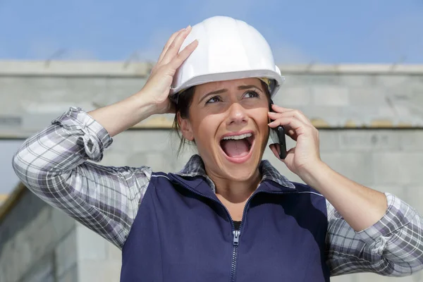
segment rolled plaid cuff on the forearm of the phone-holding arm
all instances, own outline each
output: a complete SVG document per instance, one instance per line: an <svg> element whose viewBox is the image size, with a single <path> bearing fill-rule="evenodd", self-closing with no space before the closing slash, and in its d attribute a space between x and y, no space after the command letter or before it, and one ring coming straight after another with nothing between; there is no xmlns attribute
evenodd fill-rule
<svg viewBox="0 0 423 282"><path fill-rule="evenodd" d="M386 209L384 216L373 226L357 232L357 235L364 240L364 243L370 245L376 252L384 250L388 238L398 229L410 223L417 215L415 209L395 195L385 192L385 196L388 202L388 209Z"/></svg>

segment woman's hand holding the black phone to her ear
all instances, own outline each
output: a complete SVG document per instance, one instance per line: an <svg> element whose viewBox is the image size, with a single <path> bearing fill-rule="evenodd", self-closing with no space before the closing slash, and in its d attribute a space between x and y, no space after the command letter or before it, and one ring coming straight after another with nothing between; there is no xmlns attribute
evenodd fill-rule
<svg viewBox="0 0 423 282"><path fill-rule="evenodd" d="M315 166L322 164L319 153L319 131L301 111L282 108L275 104L272 105L272 109L275 113L269 112L269 118L273 120L269 123L269 127L276 128L278 125L283 125L286 135L297 142L281 161L301 178L302 173L308 173ZM270 145L270 149L280 159L274 144Z"/></svg>

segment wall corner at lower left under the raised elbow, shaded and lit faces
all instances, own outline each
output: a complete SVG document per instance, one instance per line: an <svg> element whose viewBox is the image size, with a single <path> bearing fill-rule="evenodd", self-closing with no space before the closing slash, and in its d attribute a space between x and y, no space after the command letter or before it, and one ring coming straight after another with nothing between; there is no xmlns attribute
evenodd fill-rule
<svg viewBox="0 0 423 282"><path fill-rule="evenodd" d="M1 282L118 281L117 247L25 192L0 222Z"/></svg>

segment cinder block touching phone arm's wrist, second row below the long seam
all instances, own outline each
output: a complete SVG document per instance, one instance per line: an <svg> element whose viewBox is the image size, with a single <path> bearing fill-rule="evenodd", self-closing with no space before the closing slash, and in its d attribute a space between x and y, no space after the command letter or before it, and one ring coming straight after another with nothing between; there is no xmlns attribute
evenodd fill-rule
<svg viewBox="0 0 423 282"><path fill-rule="evenodd" d="M362 185L373 185L372 155L366 152L322 152L322 161L334 171Z"/></svg>

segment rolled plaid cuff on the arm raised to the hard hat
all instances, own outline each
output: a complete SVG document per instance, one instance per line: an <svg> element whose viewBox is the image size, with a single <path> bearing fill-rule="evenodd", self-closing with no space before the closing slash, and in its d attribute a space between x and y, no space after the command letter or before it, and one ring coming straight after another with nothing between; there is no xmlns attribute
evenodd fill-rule
<svg viewBox="0 0 423 282"><path fill-rule="evenodd" d="M101 161L104 149L113 142L106 128L79 107L72 106L51 123L59 124L67 130L82 131L85 153L92 161Z"/></svg>

